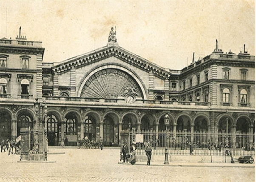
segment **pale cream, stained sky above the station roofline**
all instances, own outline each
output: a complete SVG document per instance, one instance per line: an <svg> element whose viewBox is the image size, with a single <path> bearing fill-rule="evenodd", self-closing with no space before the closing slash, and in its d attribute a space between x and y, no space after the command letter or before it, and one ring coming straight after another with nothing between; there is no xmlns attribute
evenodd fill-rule
<svg viewBox="0 0 256 182"><path fill-rule="evenodd" d="M61 62L107 45L116 27L120 47L161 67L182 69L216 47L255 55L254 0L0 0L0 37L42 41L44 62Z"/></svg>

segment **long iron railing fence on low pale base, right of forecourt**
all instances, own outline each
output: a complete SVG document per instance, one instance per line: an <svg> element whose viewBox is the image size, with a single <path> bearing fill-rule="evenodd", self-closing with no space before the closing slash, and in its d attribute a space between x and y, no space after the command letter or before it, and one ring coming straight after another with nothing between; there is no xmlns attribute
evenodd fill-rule
<svg viewBox="0 0 256 182"><path fill-rule="evenodd" d="M225 155L230 150L234 156L255 156L255 134L251 133L211 133L191 131L131 131L130 143L137 143L137 154L145 155L145 142L153 147L152 155L164 155L165 148L171 155ZM139 140L139 141L138 141Z"/></svg>

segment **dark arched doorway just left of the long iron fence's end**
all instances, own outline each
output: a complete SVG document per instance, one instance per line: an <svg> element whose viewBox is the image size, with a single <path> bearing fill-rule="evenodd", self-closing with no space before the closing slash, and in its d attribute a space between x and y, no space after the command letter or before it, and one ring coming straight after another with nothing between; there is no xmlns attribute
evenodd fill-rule
<svg viewBox="0 0 256 182"><path fill-rule="evenodd" d="M103 119L103 145L118 145L118 121L119 117L115 113L108 113Z"/></svg>

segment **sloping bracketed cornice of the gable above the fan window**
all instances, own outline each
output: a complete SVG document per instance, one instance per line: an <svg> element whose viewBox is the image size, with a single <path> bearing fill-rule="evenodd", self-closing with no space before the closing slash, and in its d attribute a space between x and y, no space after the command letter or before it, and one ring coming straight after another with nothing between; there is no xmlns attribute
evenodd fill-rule
<svg viewBox="0 0 256 182"><path fill-rule="evenodd" d="M53 71L58 74L62 74L69 71L71 68L81 68L113 56L117 57L119 60L129 63L131 66L135 66L147 72L151 71L156 77L160 77L161 79L168 78L171 75L171 73L166 71L164 68L151 63L150 61L145 60L144 58L119 46L105 46L86 54L72 57L59 63L58 65L55 65L53 67Z"/></svg>

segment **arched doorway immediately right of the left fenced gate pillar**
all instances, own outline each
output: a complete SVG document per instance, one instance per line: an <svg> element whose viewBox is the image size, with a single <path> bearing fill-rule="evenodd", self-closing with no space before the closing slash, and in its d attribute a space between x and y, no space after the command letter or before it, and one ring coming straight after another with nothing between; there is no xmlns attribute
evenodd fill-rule
<svg viewBox="0 0 256 182"><path fill-rule="evenodd" d="M60 139L60 123L54 114L46 116L48 145L58 145Z"/></svg>

